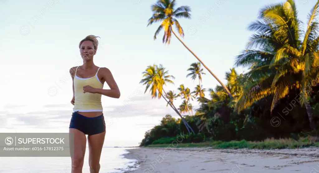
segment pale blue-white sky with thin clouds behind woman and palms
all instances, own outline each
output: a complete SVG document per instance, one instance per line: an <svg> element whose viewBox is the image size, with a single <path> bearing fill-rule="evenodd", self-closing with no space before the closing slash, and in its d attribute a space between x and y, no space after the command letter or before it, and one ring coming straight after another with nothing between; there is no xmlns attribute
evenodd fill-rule
<svg viewBox="0 0 319 173"><path fill-rule="evenodd" d="M139 84L142 72L154 63L163 64L176 78L166 91L177 92L180 84L193 90L198 84L186 78L196 58L174 36L164 45L163 31L154 41L159 23L146 27L155 2L1 0L0 132L68 132L73 108L69 69L81 65L78 43L89 34L101 37L95 64L111 70L121 91L119 99L102 96L108 124L104 146L137 146L166 114L178 118L165 100L152 100ZM192 10L192 19L178 19L183 41L226 82L225 72L253 34L248 25L261 7L278 2L284 1L177 0L177 6ZM296 0L304 23L314 4ZM216 79L204 72L204 88L215 88ZM180 103L175 101L176 106ZM198 108L197 102L193 105Z"/></svg>

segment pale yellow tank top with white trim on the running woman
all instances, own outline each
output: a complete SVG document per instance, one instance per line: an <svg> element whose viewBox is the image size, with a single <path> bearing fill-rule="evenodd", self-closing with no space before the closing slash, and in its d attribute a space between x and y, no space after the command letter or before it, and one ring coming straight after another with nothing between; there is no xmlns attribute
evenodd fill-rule
<svg viewBox="0 0 319 173"><path fill-rule="evenodd" d="M79 78L77 76L78 67L74 75L74 107L73 111L79 112L102 112L101 94L83 93L83 86L89 85L93 88L103 89L103 84L98 78L98 72L91 78Z"/></svg>

